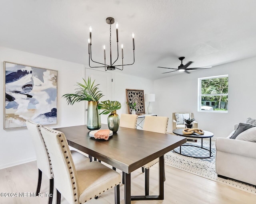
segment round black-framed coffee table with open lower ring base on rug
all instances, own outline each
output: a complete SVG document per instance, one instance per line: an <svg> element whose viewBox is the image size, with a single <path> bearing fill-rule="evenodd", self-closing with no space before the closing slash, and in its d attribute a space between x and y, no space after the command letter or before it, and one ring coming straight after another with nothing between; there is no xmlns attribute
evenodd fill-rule
<svg viewBox="0 0 256 204"><path fill-rule="evenodd" d="M179 135L179 136L183 136L183 137L192 137L192 138L201 138L202 139L202 145L201 147L200 146L196 146L196 145L180 145L180 152L176 151L175 149L173 150L174 152L180 154L180 155L184 155L182 154L181 152L181 146L191 146L191 147L198 147L198 148L201 148L201 149L205 149L206 151L209 151L210 155L209 157L194 157L194 158L210 158L213 156L213 153L212 153L212 137L213 137L213 133L212 132L209 132L209 131L205 131L204 130L204 134L203 135L200 135L200 134L197 134L197 133L192 133L191 135L186 135L186 134L183 134L182 133L182 129L174 129L172 131L175 135ZM203 147L203 139L204 138L210 138L210 149L206 149ZM187 156L187 157L192 157L192 156L189 156L189 155L184 155L184 156Z"/></svg>

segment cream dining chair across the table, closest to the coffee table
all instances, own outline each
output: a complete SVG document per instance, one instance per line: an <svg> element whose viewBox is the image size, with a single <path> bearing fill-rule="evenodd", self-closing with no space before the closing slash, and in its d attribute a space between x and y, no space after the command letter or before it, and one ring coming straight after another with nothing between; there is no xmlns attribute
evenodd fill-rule
<svg viewBox="0 0 256 204"><path fill-rule="evenodd" d="M167 126L168 126L168 117L146 116L144 120L143 130L166 134ZM145 195L146 196L149 195L149 168L158 162L159 162L159 159L157 158L142 167L142 172L145 171ZM165 173L164 173L164 180L165 180Z"/></svg>

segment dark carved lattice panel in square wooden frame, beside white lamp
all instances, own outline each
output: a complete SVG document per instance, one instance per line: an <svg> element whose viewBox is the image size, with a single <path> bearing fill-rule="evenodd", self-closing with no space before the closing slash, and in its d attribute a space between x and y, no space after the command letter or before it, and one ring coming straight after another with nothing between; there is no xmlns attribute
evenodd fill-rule
<svg viewBox="0 0 256 204"><path fill-rule="evenodd" d="M126 89L127 103L136 103L136 114L145 113L144 90ZM128 113L132 113L132 109L128 105Z"/></svg>

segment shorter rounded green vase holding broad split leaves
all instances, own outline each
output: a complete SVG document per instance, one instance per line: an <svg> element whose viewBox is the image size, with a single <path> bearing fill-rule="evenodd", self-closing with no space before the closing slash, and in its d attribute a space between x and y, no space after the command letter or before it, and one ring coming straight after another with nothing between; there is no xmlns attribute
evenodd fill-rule
<svg viewBox="0 0 256 204"><path fill-rule="evenodd" d="M108 116L108 128L113 131L113 133L116 133L119 128L120 124L120 118L118 114L116 113L116 110L119 110L121 108L121 104L118 101L101 101L98 104L98 109L104 110L100 114L109 114Z"/></svg>

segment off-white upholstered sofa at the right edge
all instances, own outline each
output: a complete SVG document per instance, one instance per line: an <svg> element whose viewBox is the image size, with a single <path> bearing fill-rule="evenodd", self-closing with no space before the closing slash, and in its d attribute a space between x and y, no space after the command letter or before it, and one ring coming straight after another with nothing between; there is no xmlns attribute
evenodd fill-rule
<svg viewBox="0 0 256 204"><path fill-rule="evenodd" d="M238 124L235 125L237 129ZM247 129L240 135L251 134L247 136L253 135L255 140L255 129ZM239 180L256 187L256 142L240 140L239 135L236 139L230 139L234 132L227 138L216 139L216 173L218 177Z"/></svg>

